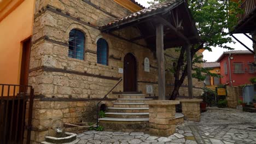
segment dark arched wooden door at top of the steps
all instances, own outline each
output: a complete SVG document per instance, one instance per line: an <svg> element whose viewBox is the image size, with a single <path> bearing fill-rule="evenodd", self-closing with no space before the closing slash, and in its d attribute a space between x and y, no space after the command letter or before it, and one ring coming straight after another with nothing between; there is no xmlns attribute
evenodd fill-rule
<svg viewBox="0 0 256 144"><path fill-rule="evenodd" d="M124 57L124 92L137 91L137 62L135 56L127 53Z"/></svg>

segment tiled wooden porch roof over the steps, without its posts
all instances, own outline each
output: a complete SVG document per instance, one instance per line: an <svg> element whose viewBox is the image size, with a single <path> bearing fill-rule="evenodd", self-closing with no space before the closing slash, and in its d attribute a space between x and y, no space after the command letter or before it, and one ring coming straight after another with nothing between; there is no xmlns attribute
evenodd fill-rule
<svg viewBox="0 0 256 144"><path fill-rule="evenodd" d="M185 0L171 0L142 9L129 16L108 23L101 27L101 31L114 35L112 32L119 29L136 27L141 35L129 40L136 43L137 40L144 39L147 43L146 47L155 51L155 31L159 23L165 26L164 49L184 44L184 39L178 33L188 38L190 44L197 43L199 39L195 23Z"/></svg>

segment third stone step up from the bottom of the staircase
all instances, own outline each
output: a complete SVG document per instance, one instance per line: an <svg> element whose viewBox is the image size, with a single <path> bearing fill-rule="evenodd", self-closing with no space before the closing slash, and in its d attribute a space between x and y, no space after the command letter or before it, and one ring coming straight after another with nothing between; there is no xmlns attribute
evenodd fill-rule
<svg viewBox="0 0 256 144"><path fill-rule="evenodd" d="M143 113L143 112L148 112L148 107L135 107L135 108L130 108L130 107L108 107L108 112L123 112L123 113Z"/></svg>

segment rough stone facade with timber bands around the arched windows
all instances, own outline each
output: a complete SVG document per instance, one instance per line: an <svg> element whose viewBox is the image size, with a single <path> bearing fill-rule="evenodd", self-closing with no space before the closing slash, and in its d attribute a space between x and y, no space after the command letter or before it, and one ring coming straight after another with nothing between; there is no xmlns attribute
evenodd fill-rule
<svg viewBox="0 0 256 144"><path fill-rule="evenodd" d="M53 135L54 128L63 127L63 123L95 121L95 103L98 101L95 99L103 98L123 77L118 71L123 68L127 53L132 53L137 60L137 91L146 94L146 85L152 85L153 93L158 94L158 69L153 52L98 29L98 26L129 13L108 0L36 1L29 84L42 98L34 104L31 138L34 143L43 141L46 135ZM69 32L74 28L85 34L84 60L68 57ZM130 39L137 37L139 32L135 28L126 28L115 34ZM109 46L108 65L97 64L96 43L100 38ZM144 41L139 43L144 44ZM149 73L144 71L145 57L150 61ZM181 93L186 89L184 86ZM123 92L123 82L113 92ZM118 95L110 93L108 98L115 99Z"/></svg>

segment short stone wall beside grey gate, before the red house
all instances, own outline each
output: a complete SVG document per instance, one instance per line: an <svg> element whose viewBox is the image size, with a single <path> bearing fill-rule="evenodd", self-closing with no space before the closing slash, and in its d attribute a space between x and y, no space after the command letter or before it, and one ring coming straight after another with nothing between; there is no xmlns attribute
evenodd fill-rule
<svg viewBox="0 0 256 144"><path fill-rule="evenodd" d="M241 87L226 87L226 100L228 100L228 107L230 108L236 108L238 104L238 98L241 96Z"/></svg>

